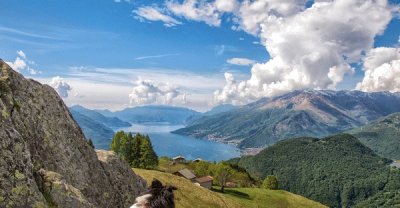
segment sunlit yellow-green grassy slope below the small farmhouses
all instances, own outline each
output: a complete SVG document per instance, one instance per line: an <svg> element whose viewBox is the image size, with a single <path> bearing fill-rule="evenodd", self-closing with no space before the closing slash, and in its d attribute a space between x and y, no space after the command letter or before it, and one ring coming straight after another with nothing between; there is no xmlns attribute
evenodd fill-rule
<svg viewBox="0 0 400 208"><path fill-rule="evenodd" d="M204 208L242 208L242 207L268 207L268 208L313 208L324 207L304 197L286 191L271 191L258 188L227 189L225 194L213 192L198 187L190 181L154 170L134 169L135 173L151 182L153 178L163 183L174 185L178 188L175 192L177 208L204 207Z"/></svg>

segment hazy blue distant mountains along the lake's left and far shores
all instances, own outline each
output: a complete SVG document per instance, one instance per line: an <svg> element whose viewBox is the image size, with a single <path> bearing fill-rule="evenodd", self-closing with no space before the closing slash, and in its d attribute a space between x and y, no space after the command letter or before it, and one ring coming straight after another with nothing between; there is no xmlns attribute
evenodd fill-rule
<svg viewBox="0 0 400 208"><path fill-rule="evenodd" d="M141 106L121 111L91 110L75 105L69 108L73 118L82 128L86 138L96 149L108 150L116 130L136 123L163 123L183 125L198 119L202 114L187 108L171 106Z"/></svg>

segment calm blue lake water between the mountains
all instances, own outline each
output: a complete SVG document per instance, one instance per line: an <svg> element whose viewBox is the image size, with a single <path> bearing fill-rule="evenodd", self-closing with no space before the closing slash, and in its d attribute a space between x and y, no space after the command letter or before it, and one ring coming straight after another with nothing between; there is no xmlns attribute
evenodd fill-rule
<svg viewBox="0 0 400 208"><path fill-rule="evenodd" d="M184 126L150 123L133 124L131 127L119 130L148 134L158 156L182 155L187 160L201 158L208 161L221 161L240 156L240 150L234 145L170 133L182 127Z"/></svg>

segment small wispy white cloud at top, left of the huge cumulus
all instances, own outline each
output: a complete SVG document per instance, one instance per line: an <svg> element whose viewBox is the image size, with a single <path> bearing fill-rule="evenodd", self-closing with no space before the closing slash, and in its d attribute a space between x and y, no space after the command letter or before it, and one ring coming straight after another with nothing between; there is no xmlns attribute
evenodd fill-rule
<svg viewBox="0 0 400 208"><path fill-rule="evenodd" d="M136 17L141 21L144 20L161 21L164 22L164 25L166 27L173 27L182 24L175 18L164 14L163 11L158 7L151 7L151 6L140 7L137 10L133 10L133 13L135 13L137 15Z"/></svg>

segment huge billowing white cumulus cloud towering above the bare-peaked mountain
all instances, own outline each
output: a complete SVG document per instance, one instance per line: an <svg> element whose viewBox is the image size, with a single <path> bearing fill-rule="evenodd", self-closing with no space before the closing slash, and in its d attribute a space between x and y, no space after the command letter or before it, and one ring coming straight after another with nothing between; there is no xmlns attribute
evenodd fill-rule
<svg viewBox="0 0 400 208"><path fill-rule="evenodd" d="M295 89L334 89L346 74L354 72L350 63L371 49L374 37L392 18L387 1L324 1L311 8L301 7L300 1L273 2L242 3L253 12L240 13L240 27L259 33L271 59L254 64L250 79L228 82L215 93L217 103L244 102ZM266 7L273 8L260 14L266 17L251 15ZM246 23L247 18L253 22ZM226 96L231 94L236 96Z"/></svg>

